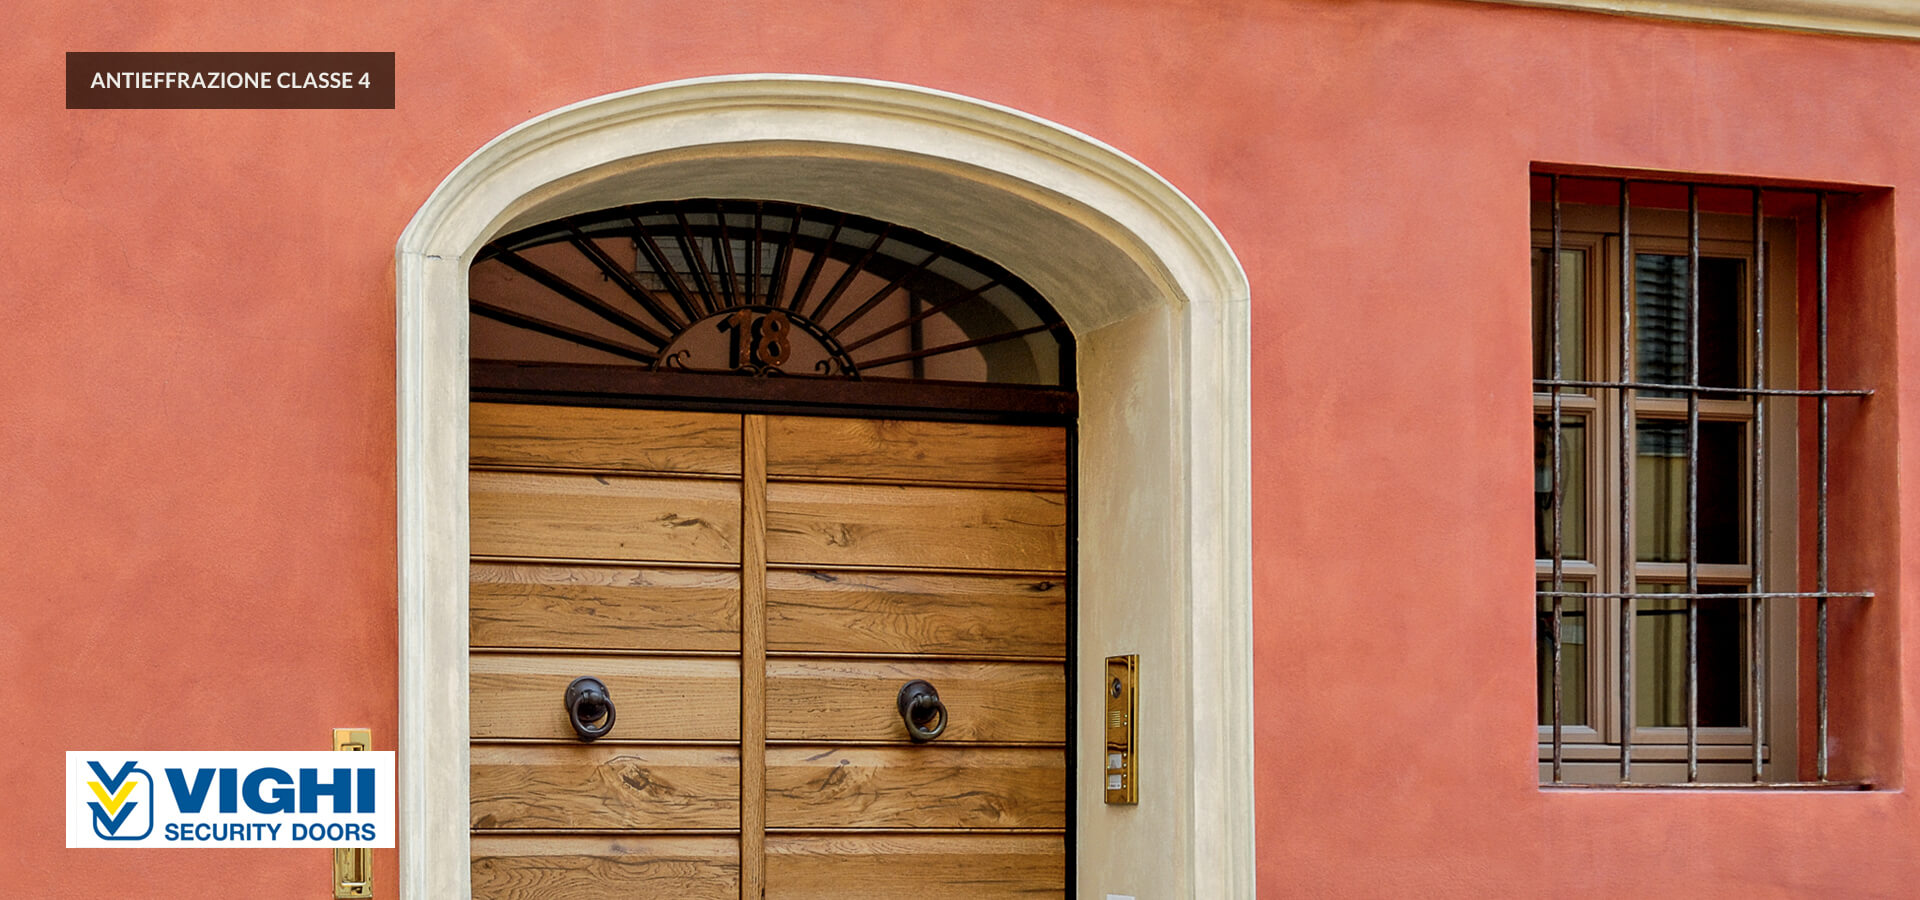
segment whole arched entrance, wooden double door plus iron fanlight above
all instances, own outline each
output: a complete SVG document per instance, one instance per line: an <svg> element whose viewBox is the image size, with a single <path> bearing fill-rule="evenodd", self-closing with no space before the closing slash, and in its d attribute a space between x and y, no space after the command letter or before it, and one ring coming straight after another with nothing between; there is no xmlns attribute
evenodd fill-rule
<svg viewBox="0 0 1920 900"><path fill-rule="evenodd" d="M522 228L468 286L474 896L1071 892L1044 299L760 200Z"/></svg>

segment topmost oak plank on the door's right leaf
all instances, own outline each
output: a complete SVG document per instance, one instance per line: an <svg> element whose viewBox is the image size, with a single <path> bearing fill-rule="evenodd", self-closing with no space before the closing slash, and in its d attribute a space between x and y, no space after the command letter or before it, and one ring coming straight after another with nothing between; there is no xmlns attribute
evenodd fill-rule
<svg viewBox="0 0 1920 900"><path fill-rule="evenodd" d="M768 416L766 474L1064 489L1066 441L1064 428L1043 426Z"/></svg>

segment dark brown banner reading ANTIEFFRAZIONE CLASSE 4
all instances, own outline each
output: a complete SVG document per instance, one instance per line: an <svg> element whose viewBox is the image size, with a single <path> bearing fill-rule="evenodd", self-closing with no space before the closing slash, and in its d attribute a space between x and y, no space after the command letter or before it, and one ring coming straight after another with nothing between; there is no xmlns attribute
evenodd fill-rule
<svg viewBox="0 0 1920 900"><path fill-rule="evenodd" d="M392 109L394 54L67 54L67 109Z"/></svg>

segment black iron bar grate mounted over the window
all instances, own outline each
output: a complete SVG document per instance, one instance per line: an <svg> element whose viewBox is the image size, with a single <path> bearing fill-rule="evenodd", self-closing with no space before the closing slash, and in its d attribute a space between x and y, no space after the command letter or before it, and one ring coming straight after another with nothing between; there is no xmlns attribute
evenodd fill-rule
<svg viewBox="0 0 1920 900"><path fill-rule="evenodd" d="M1836 399L1866 397L1870 390L1836 390L1832 388L1830 359L1828 359L1828 192L1799 192L1812 194L1812 217L1814 217L1814 259L1816 274L1814 284L1814 359L1816 359L1816 386L1799 388L1768 386L1768 320L1766 320L1766 292L1768 292L1768 242L1764 234L1766 226L1766 198L1774 194L1776 188L1740 188L1751 194L1751 265L1745 267L1745 276L1751 278L1745 284L1751 301L1747 303L1745 322L1740 322L1747 330L1745 340L1751 342L1751 359L1747 359L1747 372L1732 372L1732 365L1738 359L1728 359L1726 353L1716 353L1707 359L1707 378L1703 378L1703 345L1701 345L1701 322L1703 322L1703 292L1701 292L1701 188L1703 184L1674 184L1674 182L1651 182L1651 180L1632 180L1632 178L1605 178L1605 177L1565 177L1569 180L1578 178L1582 186L1592 188L1596 184L1605 188L1617 188L1619 192L1619 223L1617 234L1613 236L1613 248L1609 253L1617 253L1613 259L1619 290L1617 301L1617 359L1611 361L1617 368L1615 378L1569 378L1565 368L1567 345L1563 336L1563 301L1565 301L1565 272L1563 269L1563 177L1546 175L1548 194L1549 194L1549 219L1551 236L1549 246L1544 248L1546 255L1546 334L1536 332L1536 342L1546 340L1549 353L1546 363L1546 378L1534 378L1536 391L1536 416L1544 413L1544 424L1548 438L1544 441L1546 455L1551 459L1551 482L1549 499L1542 497L1544 512L1548 512L1549 528L1544 533L1544 562L1549 566L1548 572L1540 572L1534 606L1544 618L1542 639L1548 643L1548 660L1542 660L1542 668L1551 668L1549 697L1542 699L1542 714L1551 722L1551 785L1567 783L1567 710L1569 697L1567 691L1567 629L1569 620L1578 620L1574 624L1578 637L1580 658L1588 652L1588 626L1594 624L1592 610L1599 603L1619 604L1617 628L1619 633L1613 635L1617 654L1613 664L1617 666L1617 675L1609 685L1617 691L1615 712L1619 716L1619 781L1617 783L1582 783L1580 787L1686 787L1686 789L1715 789L1715 787L1768 787L1768 789L1830 789L1830 787L1866 787L1860 783L1837 783L1830 781L1830 760L1828 760L1828 604L1834 601L1862 601L1872 597L1870 591L1836 591L1830 583L1830 522L1828 522L1828 468L1830 468L1830 405ZM1645 265L1644 257L1636 257L1634 248L1634 205L1632 194L1634 186L1663 186L1663 190L1686 192L1686 255L1684 257L1651 257L1655 263ZM1728 192L1724 186L1711 186L1718 192ZM1538 280L1536 280L1538 284ZM1536 288L1538 290L1538 288ZM1667 294L1668 303L1636 303L1636 297L1653 297L1657 294ZM1647 309L1636 309L1645 305ZM1584 315L1584 313L1582 313ZM1645 317L1645 320L1636 320L1636 317ZM1778 322L1786 324L1786 322ZM1776 324L1776 326L1778 326ZM1576 343L1578 345L1578 343ZM1580 345L1584 347L1584 345ZM1536 349L1538 353L1538 349ZM1588 353L1580 349L1580 353ZM1636 361L1638 355L1638 361ZM1738 357L1738 355L1736 355ZM1538 359L1538 357L1536 357ZM1636 367L1638 363L1638 367ZM1540 363L1536 363L1538 367ZM1540 374L1536 370L1536 374ZM1740 384L1741 378L1751 378L1747 384ZM1563 438L1569 430L1582 430L1588 420L1571 422L1567 393L1582 393L1582 413L1599 411L1609 401L1613 403L1613 414L1619 420L1615 439L1617 449L1611 451L1613 459L1601 464L1617 466L1617 472L1597 472L1582 468L1582 484L1590 484L1592 478L1617 478L1617 489L1605 503L1615 505L1617 514L1613 516L1613 528L1617 530L1617 551L1613 553L1611 564L1617 566L1613 576L1622 589L1617 591L1596 591L1580 589L1569 578L1569 447ZM1546 395L1546 409L1540 409L1540 395ZM1638 397L1663 397L1684 401L1684 428L1672 428L1680 420L1668 418L1663 424L1647 426L1642 430ZM1770 585L1768 583L1768 397L1793 397L1797 401L1811 401L1816 416L1814 426L1814 472L1816 486L1811 491L1814 497L1814 572L1811 591L1793 591L1780 587L1799 587L1805 581L1795 580L1793 585ZM1749 566L1749 585L1751 589L1726 589L1728 585L1703 585L1701 566L1703 562L1722 562L1722 558L1703 560L1701 555L1701 403L1703 401L1747 401L1751 411L1745 414L1743 424L1749 428L1749 438L1743 439L1745 447L1745 497L1736 503L1743 507L1743 528L1740 533L1745 547L1745 564ZM1638 438L1638 441L1636 441ZM1653 451L1647 449L1647 439L1657 443ZM1536 455L1542 451L1536 449ZM1636 516L1634 501L1638 491L1636 482L1636 457L1672 457L1674 462L1684 461L1678 468L1684 472L1684 533L1680 535L1680 562L1684 566L1684 581L1674 580L1672 583L1655 585L1667 589L1642 589L1638 583L1638 562L1642 558L1642 545L1636 543ZM1663 461L1665 462L1665 461ZM1546 487L1546 486L1538 486ZM1722 497L1716 497L1722 499ZM1584 497L1580 497L1584 503ZM1578 507L1578 509L1584 509ZM1720 526L1720 518L1726 518L1722 509L1709 510L1715 526ZM1720 530L1715 537L1726 537L1728 532ZM1584 553L1588 535L1582 532L1578 545L1582 551L1572 557L1594 558L1594 555ZM1718 553L1718 551L1716 551ZM1536 562L1538 566L1538 562ZM1740 649L1747 658L1749 687L1745 689L1743 710L1747 716L1747 729L1751 731L1751 745L1747 754L1751 760L1751 779L1749 781L1705 781L1701 777L1701 610L1703 604L1741 604L1740 614L1745 618L1743 633L1745 647ZM1791 777L1766 779L1764 771L1764 748L1763 739L1766 735L1766 641L1763 635L1768 633L1768 616L1786 612L1797 612L1799 604L1814 604L1814 760L1811 768L1811 779L1801 779L1797 773ZM1647 608L1642 608L1647 606ZM1684 612L1678 604L1684 604ZM1716 610L1718 612L1718 610ZM1634 733L1636 725L1645 722L1636 722L1636 620L1644 616L1680 616L1684 614L1684 729L1686 729L1686 781L1634 781ZM1584 681L1582 681L1584 683ZM1548 687L1542 685L1542 687ZM1580 697L1580 706L1584 714L1586 702Z"/></svg>

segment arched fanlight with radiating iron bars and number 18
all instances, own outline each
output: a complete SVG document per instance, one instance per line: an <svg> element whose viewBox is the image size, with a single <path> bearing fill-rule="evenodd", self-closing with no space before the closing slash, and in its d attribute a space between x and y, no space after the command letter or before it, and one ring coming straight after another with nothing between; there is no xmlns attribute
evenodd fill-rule
<svg viewBox="0 0 1920 900"><path fill-rule="evenodd" d="M899 225L770 200L574 215L480 249L472 357L747 376L1071 386L1023 280Z"/></svg>

